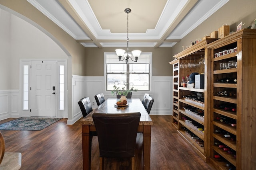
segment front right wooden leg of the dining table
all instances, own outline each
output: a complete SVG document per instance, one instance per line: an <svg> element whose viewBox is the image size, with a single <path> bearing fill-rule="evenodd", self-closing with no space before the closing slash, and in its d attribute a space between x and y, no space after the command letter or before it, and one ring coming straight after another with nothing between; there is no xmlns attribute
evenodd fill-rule
<svg viewBox="0 0 256 170"><path fill-rule="evenodd" d="M143 126L144 170L150 170L151 125Z"/></svg>

